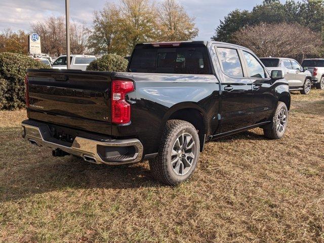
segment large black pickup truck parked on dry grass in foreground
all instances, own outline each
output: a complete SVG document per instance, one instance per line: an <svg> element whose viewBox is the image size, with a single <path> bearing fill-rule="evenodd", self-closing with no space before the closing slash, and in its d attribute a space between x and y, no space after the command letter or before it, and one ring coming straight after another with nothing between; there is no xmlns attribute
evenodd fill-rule
<svg viewBox="0 0 324 243"><path fill-rule="evenodd" d="M176 185L208 141L256 127L284 136L282 75L249 49L219 42L138 44L127 72L29 69L23 137L96 164L149 160L159 181Z"/></svg>

